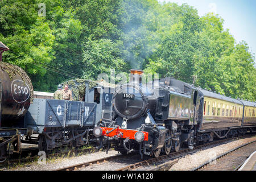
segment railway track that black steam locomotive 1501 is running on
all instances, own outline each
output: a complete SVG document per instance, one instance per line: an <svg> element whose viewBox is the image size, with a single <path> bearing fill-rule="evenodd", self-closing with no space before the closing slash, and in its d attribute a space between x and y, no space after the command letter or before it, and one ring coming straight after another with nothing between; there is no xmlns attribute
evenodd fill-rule
<svg viewBox="0 0 256 182"><path fill-rule="evenodd" d="M251 136L250 136L251 137ZM238 137L237 139L245 138L245 137ZM223 139L223 140L217 140L214 142L202 144L200 146L196 146L194 150L197 150L199 148L212 146L219 143L228 142L230 140L234 139ZM172 165L177 163L179 161L179 158L182 158L183 156L187 154L191 154L193 150L189 150L188 148L185 148L184 150L178 151L178 152L172 152L169 155L162 155L159 156L159 158L147 158L146 160L141 160L141 156L138 154L130 154L130 155L115 155L115 156L109 156L107 158L101 158L97 160L92 160L89 162L83 162L80 164L75 164L68 167L63 167L56 169L56 171L76 171L76 170L93 170L93 165L97 166L98 168L100 165L105 166L125 166L125 167L119 167L117 169L111 168L109 170L115 170L115 171L164 171L171 168ZM131 163L131 164L129 164ZM103 167L102 167L103 168ZM102 168L98 168L96 170L102 170ZM103 169L107 169L103 168Z"/></svg>

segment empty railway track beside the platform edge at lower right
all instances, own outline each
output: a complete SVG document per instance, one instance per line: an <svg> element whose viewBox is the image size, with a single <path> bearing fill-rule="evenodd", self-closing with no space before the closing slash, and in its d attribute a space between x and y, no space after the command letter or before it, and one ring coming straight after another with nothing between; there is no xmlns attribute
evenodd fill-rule
<svg viewBox="0 0 256 182"><path fill-rule="evenodd" d="M255 150L256 140L218 155L216 158L193 168L192 171L237 171Z"/></svg>

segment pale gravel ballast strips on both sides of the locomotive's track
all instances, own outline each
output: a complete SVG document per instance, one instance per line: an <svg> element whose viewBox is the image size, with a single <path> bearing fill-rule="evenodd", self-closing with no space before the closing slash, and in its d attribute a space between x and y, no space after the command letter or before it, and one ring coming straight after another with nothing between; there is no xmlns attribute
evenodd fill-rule
<svg viewBox="0 0 256 182"><path fill-rule="evenodd" d="M251 142L256 140L256 137L253 138L245 138L240 140L234 140L231 142L226 142L223 144L216 144L215 146L203 147L199 150L193 150L189 152L189 154L185 155L183 158L179 159L177 164L174 164L170 168L170 171L187 171L191 170L200 164L207 162L208 160L214 158L214 156L218 156L223 154L233 148L241 146L242 144ZM193 153L193 154L192 154ZM113 155L118 155L117 151L110 150L108 154L106 152L100 151L92 154L86 154L81 156L74 156L71 158L58 158L54 160L47 160L46 164L38 164L37 162L24 164L23 166L19 166L16 168L11 168L8 170L18 170L18 171L53 171L58 168L68 167L75 164L89 162L96 159L101 159ZM102 165L102 164L101 164ZM112 163L105 163L105 167L102 167L98 170L115 170ZM112 166L112 167L111 167ZM121 166L120 166L121 167ZM94 170L93 168L86 168L86 170Z"/></svg>

